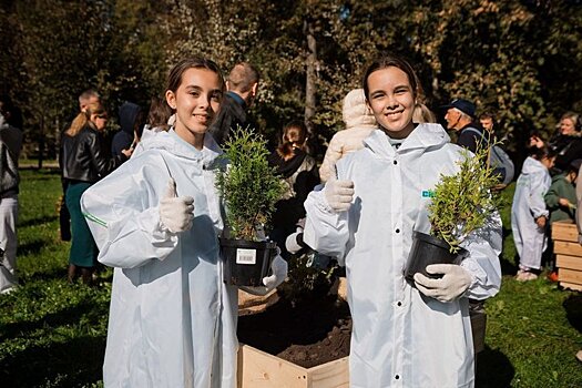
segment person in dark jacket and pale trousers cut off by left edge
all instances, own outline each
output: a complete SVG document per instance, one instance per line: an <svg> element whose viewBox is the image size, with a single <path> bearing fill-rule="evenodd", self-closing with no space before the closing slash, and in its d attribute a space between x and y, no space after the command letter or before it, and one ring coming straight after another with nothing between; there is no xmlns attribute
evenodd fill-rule
<svg viewBox="0 0 582 388"><path fill-rule="evenodd" d="M20 110L8 95L0 95L0 294L9 294L18 286L18 159L22 150L21 126Z"/></svg>

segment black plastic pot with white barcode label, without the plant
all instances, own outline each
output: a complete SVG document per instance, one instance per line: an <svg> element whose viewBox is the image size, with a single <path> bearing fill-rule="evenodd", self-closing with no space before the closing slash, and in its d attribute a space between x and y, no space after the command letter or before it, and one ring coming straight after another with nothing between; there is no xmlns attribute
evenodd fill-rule
<svg viewBox="0 0 582 388"><path fill-rule="evenodd" d="M235 286L263 286L263 277L277 255L274 242L218 238L224 261L224 283Z"/></svg>

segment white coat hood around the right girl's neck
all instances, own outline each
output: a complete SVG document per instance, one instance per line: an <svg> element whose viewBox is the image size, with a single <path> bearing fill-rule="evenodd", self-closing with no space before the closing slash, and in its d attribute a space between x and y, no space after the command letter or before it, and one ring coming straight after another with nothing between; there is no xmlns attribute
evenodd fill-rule
<svg viewBox="0 0 582 388"><path fill-rule="evenodd" d="M446 143L450 143L450 137L440 124L422 123L417 124L415 130L405 139L398 152L440 147ZM396 150L388 141L388 135L382 130L376 130L366 137L364 146L384 157L394 157L396 154Z"/></svg>

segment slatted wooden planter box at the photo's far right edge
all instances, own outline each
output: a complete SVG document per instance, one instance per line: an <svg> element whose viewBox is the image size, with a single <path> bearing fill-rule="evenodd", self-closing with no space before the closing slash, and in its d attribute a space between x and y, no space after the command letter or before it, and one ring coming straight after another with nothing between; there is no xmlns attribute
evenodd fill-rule
<svg viewBox="0 0 582 388"><path fill-rule="evenodd" d="M560 285L564 288L582 290L582 246L578 243L576 225L554 222L552 241Z"/></svg>

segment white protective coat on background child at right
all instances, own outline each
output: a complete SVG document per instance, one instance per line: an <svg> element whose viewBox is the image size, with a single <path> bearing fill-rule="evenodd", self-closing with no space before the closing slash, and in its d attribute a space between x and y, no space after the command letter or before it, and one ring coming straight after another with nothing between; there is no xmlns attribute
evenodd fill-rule
<svg viewBox="0 0 582 388"><path fill-rule="evenodd" d="M548 217L550 214L543 196L551 184L548 169L531 156L525 159L515 183L511 205L511 229L520 265L527 268L540 269L542 253L548 246L545 231L538 227L535 218L542 215Z"/></svg>

